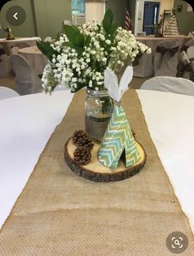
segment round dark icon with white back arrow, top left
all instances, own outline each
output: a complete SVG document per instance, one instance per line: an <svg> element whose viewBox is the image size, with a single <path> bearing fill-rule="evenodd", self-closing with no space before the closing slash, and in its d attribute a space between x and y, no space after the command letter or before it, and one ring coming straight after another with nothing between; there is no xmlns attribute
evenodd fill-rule
<svg viewBox="0 0 194 256"><path fill-rule="evenodd" d="M21 26L26 19L25 10L22 7L10 7L6 12L6 19L12 26Z"/></svg>

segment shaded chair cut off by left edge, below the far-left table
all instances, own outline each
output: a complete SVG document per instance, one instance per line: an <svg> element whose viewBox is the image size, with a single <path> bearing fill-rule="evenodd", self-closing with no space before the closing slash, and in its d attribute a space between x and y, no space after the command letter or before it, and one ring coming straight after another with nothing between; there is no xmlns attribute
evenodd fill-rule
<svg viewBox="0 0 194 256"><path fill-rule="evenodd" d="M7 77L12 73L12 67L2 45L0 45L0 77Z"/></svg>

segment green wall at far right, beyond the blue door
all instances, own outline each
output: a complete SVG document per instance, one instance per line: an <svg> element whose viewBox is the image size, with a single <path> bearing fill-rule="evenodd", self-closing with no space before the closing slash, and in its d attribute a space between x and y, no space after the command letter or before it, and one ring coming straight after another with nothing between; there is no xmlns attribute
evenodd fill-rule
<svg viewBox="0 0 194 256"><path fill-rule="evenodd" d="M174 0L174 9L177 9L178 5L182 5L182 12L177 12L179 30L181 34L188 35L189 31L194 31L194 12L187 12L185 1Z"/></svg>

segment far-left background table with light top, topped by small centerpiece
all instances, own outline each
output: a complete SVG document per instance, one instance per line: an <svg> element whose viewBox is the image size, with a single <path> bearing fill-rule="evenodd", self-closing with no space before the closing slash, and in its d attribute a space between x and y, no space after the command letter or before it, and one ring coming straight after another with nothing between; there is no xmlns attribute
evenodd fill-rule
<svg viewBox="0 0 194 256"><path fill-rule="evenodd" d="M7 55L10 55L10 50L15 43L27 42L29 45L35 46L36 41L39 41L39 40L40 40L40 38L38 36L16 37L15 40L6 40L6 38L3 38L3 39L0 39L0 45L2 45L2 47L5 50L5 52L7 53Z"/></svg>

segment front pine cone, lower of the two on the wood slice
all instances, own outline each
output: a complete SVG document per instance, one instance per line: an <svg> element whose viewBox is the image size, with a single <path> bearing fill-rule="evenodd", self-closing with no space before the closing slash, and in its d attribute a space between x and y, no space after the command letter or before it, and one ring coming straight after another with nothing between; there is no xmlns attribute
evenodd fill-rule
<svg viewBox="0 0 194 256"><path fill-rule="evenodd" d="M73 152L73 156L77 164L88 164L91 158L90 149L86 149L85 147L76 148Z"/></svg>

